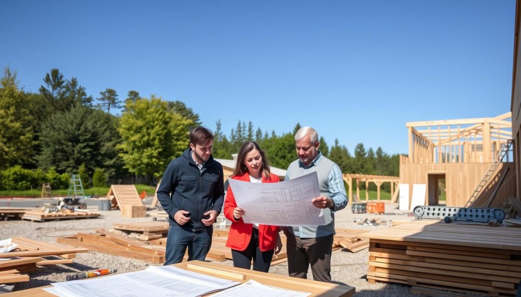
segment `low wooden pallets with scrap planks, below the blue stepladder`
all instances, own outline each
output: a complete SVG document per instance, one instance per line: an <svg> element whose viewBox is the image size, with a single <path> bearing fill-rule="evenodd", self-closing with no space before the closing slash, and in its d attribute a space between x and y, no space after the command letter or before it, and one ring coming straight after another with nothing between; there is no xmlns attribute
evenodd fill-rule
<svg viewBox="0 0 521 297"><path fill-rule="evenodd" d="M0 208L0 218L7 220L8 218L14 219L27 219L31 222L45 222L45 221L59 221L60 219L77 219L77 218L92 218L98 217L100 213L89 212L85 210L70 210L64 209L60 212L45 212L41 208Z"/></svg>

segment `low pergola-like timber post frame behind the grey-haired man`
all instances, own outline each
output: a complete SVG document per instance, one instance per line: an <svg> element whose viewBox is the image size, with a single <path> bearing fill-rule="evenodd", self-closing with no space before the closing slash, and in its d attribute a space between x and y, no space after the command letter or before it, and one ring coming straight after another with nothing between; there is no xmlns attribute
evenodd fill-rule
<svg viewBox="0 0 521 297"><path fill-rule="evenodd" d="M400 177L384 176L384 175L369 175L369 174L342 174L345 183L348 184L349 202L360 202L360 182L365 182L365 201L369 202L369 183L374 183L377 186L376 201L377 202L395 202L398 198L398 184ZM356 199L353 196L353 179L356 180ZM391 183L391 200L380 200L380 186L383 183ZM357 201L355 201L357 200Z"/></svg>

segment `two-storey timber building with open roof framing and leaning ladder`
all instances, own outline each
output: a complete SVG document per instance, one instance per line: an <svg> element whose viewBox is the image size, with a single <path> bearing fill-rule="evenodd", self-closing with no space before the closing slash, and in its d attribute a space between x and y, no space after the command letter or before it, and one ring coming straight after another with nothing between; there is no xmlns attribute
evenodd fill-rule
<svg viewBox="0 0 521 297"><path fill-rule="evenodd" d="M409 153L400 156L400 184L409 185L409 201L413 184L426 184L425 205L465 206L485 180L483 177L498 153L512 139L511 115L507 112L493 118L406 123ZM438 183L442 179L445 203L438 200ZM503 184L498 187L501 179ZM488 201L492 193L495 198L491 207L514 196L516 178L510 151L483 183L485 186L475 198L477 206Z"/></svg>

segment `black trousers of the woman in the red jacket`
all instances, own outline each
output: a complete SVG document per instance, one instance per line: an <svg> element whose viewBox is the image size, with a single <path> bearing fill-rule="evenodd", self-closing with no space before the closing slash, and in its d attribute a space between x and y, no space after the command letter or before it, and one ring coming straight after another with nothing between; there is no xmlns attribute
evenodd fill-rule
<svg viewBox="0 0 521 297"><path fill-rule="evenodd" d="M274 252L275 250L261 251L259 248L259 231L253 228L248 247L244 251L231 250L233 266L250 269L253 259L253 270L268 272Z"/></svg>

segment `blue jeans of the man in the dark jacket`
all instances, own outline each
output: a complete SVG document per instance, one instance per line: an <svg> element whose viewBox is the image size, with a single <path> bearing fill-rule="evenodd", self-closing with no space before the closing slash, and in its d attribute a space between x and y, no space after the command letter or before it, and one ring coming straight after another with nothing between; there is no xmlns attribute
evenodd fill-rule
<svg viewBox="0 0 521 297"><path fill-rule="evenodd" d="M183 261L188 248L188 261L204 261L212 246L213 226L203 230L185 230L177 225L170 225L166 239L165 265Z"/></svg>

